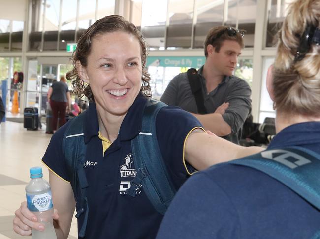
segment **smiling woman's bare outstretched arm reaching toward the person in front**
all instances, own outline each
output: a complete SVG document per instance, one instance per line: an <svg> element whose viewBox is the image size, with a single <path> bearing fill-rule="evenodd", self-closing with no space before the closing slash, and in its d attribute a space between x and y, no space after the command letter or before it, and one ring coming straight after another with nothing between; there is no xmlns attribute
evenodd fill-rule
<svg viewBox="0 0 320 239"><path fill-rule="evenodd" d="M256 154L264 148L243 147L216 135L209 135L202 130L194 130L187 138L185 159L198 170L207 167Z"/></svg>

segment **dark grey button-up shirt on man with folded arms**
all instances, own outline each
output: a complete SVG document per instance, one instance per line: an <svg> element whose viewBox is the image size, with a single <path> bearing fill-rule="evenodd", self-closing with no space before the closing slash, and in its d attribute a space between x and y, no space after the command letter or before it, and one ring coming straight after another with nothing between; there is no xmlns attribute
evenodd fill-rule
<svg viewBox="0 0 320 239"><path fill-rule="evenodd" d="M198 76L201 80L204 106L208 113L214 113L221 104L229 102L229 107L222 117L231 127L231 133L223 138L239 144L243 123L251 111L250 86L245 80L236 76L225 76L223 81L208 93L202 70L203 66L199 69ZM167 105L179 106L188 112L198 113L187 72L180 73L170 81L160 100Z"/></svg>

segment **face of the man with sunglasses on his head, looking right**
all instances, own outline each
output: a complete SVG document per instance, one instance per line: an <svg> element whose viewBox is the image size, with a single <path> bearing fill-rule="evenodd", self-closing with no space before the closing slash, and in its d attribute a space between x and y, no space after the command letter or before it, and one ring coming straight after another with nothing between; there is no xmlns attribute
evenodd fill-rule
<svg viewBox="0 0 320 239"><path fill-rule="evenodd" d="M237 60L241 54L239 43L232 40L225 40L220 48L219 53L212 51L209 54L212 57L213 66L222 75L231 76L236 68Z"/></svg>

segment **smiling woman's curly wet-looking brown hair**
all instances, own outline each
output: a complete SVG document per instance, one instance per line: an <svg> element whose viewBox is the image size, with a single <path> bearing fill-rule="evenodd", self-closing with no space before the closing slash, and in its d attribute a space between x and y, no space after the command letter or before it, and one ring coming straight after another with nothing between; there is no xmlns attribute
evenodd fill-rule
<svg viewBox="0 0 320 239"><path fill-rule="evenodd" d="M72 80L72 90L79 98L82 96L88 97L89 101L94 101L94 95L92 94L90 84L84 82L80 79L78 75L78 70L76 62L80 61L81 65L86 67L88 62L88 55L91 50L92 39L97 35L102 35L108 32L122 31L134 35L140 43L141 47L141 63L142 63L142 86L140 92L146 97L151 97L151 87L150 87L150 74L145 69L147 50L146 43L143 35L133 23L126 21L122 16L111 15L106 16L97 20L93 25L91 25L87 31L80 37L76 50L72 53L72 64L73 69L66 74L68 80Z"/></svg>

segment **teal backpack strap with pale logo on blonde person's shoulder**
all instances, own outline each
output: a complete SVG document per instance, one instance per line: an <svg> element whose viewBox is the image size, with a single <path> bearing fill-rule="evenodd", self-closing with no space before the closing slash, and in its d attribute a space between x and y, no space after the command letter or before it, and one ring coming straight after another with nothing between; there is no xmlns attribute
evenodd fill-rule
<svg viewBox="0 0 320 239"><path fill-rule="evenodd" d="M301 147L262 151L230 161L275 178L320 209L320 155Z"/></svg>

